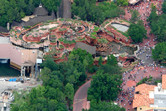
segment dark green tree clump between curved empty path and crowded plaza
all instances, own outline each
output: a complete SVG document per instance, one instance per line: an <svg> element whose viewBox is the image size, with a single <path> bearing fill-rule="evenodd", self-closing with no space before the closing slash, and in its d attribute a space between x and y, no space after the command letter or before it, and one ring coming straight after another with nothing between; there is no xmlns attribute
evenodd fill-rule
<svg viewBox="0 0 166 111"><path fill-rule="evenodd" d="M113 101L121 91L121 68L117 65L116 58L108 56L107 63L102 64L99 59L99 70L92 77L91 86L88 89L88 99L99 101Z"/></svg>

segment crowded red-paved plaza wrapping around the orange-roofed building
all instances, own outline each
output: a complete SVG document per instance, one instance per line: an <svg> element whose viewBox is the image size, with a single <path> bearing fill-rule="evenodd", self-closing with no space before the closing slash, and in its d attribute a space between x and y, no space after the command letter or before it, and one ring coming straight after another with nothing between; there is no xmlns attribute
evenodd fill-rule
<svg viewBox="0 0 166 111"><path fill-rule="evenodd" d="M134 91L136 83L145 77L161 78L162 74L166 73L163 67L158 67L155 63L149 65L144 65L143 63L138 63L133 70L126 71L123 73L123 83L122 92L119 95L117 102L125 107L126 109L132 109L132 101L134 99ZM133 86L128 86L127 82L134 81ZM129 83L130 84L130 83ZM132 83L131 83L132 84Z"/></svg>

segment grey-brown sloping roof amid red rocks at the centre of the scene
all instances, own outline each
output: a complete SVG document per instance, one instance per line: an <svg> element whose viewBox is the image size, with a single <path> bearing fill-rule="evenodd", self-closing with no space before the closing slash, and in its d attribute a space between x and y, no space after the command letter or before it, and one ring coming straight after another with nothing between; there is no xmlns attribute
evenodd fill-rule
<svg viewBox="0 0 166 111"><path fill-rule="evenodd" d="M75 48L81 48L82 50L86 50L90 54L96 54L96 46L90 46L82 42L77 42Z"/></svg>

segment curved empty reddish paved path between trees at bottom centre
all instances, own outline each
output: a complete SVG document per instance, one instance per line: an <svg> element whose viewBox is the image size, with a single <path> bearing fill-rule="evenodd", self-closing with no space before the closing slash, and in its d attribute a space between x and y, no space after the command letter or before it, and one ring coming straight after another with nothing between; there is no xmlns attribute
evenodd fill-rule
<svg viewBox="0 0 166 111"><path fill-rule="evenodd" d="M90 87L91 80L84 83L75 93L73 101L73 111L82 111L89 107L87 102L87 91Z"/></svg>

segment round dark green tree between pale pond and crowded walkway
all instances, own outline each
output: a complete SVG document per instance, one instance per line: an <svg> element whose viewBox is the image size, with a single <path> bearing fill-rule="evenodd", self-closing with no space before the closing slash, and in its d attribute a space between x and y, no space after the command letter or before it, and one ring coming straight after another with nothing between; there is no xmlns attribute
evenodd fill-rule
<svg viewBox="0 0 166 111"><path fill-rule="evenodd" d="M133 43L140 43L142 42L143 38L146 38L145 27L140 24L131 24L128 33L133 40Z"/></svg>

